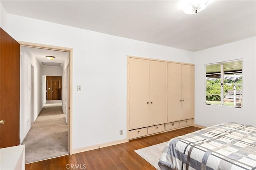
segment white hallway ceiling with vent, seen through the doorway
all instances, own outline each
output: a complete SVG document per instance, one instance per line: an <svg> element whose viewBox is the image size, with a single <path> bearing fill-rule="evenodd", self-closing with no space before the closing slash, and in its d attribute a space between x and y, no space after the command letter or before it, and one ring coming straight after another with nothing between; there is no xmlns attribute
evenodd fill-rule
<svg viewBox="0 0 256 170"><path fill-rule="evenodd" d="M25 50L30 50L34 54L38 62L41 64L41 66L44 66L42 62L46 62L46 63L50 62L50 63L61 63L60 67L62 67L66 58L69 57L69 52L65 52L65 51L39 49L34 47L21 47L21 48L24 48ZM48 59L46 59L46 55L51 55L56 58L53 61L49 61ZM44 66L44 67L57 67L57 66ZM57 67L57 68L60 68L60 67Z"/></svg>

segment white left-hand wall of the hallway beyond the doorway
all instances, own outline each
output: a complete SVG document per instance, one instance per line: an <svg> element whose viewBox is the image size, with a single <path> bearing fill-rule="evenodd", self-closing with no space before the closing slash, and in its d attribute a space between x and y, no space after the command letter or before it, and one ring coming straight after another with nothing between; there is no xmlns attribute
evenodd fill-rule
<svg viewBox="0 0 256 170"><path fill-rule="evenodd" d="M42 110L41 65L28 47L20 47L20 140L21 143ZM30 119L31 65L34 66L34 120Z"/></svg>

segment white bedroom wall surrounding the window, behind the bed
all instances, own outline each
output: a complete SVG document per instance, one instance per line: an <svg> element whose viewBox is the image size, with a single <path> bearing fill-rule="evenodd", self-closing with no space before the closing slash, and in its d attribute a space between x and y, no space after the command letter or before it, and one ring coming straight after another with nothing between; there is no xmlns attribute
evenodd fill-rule
<svg viewBox="0 0 256 170"><path fill-rule="evenodd" d="M204 64L242 59L243 107L206 105ZM210 126L223 122L256 125L256 37L195 52L195 123Z"/></svg>

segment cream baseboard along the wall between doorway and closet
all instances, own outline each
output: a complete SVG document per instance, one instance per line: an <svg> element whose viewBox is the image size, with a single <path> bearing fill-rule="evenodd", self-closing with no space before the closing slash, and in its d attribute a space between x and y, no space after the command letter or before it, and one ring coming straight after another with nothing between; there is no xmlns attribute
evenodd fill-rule
<svg viewBox="0 0 256 170"><path fill-rule="evenodd" d="M101 144L93 145L93 146L89 146L89 147L73 149L72 154L85 152L85 151L88 151L88 150L100 149L100 148L109 147L109 146L112 146L112 145L118 145L118 144L126 143L126 142L127 142L127 139L122 139L122 140L119 140L119 141L112 141L112 142L101 143Z"/></svg>

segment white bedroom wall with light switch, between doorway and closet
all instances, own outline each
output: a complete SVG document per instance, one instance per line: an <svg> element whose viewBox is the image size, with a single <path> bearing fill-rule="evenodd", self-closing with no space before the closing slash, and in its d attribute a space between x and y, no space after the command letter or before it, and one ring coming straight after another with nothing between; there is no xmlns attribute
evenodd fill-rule
<svg viewBox="0 0 256 170"><path fill-rule="evenodd" d="M18 41L73 48L73 149L126 139L127 55L194 63L191 51L11 14L7 31Z"/></svg>

